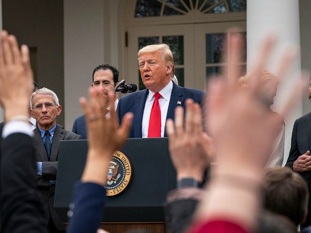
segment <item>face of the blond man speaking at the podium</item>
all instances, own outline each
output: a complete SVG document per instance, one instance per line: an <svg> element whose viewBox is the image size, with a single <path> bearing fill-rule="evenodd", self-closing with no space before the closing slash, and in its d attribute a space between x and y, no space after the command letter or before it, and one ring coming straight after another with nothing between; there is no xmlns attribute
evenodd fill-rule
<svg viewBox="0 0 311 233"><path fill-rule="evenodd" d="M171 80L173 66L164 64L159 51L140 54L138 66L142 83L153 92L159 92Z"/></svg>

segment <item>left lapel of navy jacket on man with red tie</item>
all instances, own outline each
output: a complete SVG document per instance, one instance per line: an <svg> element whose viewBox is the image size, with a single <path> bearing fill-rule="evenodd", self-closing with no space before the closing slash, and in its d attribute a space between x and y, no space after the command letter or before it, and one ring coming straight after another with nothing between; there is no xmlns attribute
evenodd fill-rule
<svg viewBox="0 0 311 233"><path fill-rule="evenodd" d="M142 116L144 113L145 103L147 99L149 90L146 89L145 91L141 92L141 95L135 100L135 109L134 109L134 137L141 137L141 122Z"/></svg>

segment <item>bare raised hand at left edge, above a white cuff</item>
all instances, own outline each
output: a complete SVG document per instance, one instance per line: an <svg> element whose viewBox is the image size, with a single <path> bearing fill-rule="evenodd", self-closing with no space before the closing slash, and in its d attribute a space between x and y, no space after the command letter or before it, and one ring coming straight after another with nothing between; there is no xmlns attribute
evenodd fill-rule
<svg viewBox="0 0 311 233"><path fill-rule="evenodd" d="M2 31L0 35L0 104L5 109L5 119L13 116L28 117L29 100L33 92L33 72L29 49L18 48L17 39Z"/></svg>

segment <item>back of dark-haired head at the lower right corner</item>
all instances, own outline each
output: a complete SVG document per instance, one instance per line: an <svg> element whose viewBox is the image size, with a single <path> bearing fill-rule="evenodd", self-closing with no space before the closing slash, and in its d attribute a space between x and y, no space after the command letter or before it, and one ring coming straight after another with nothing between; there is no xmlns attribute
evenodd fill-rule
<svg viewBox="0 0 311 233"><path fill-rule="evenodd" d="M263 178L263 201L268 210L302 223L308 204L308 187L289 167L273 167Z"/></svg>

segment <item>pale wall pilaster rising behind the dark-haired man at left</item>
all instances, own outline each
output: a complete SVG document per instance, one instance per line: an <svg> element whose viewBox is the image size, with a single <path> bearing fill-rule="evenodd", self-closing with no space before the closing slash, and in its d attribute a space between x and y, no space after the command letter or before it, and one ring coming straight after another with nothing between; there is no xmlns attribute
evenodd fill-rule
<svg viewBox="0 0 311 233"><path fill-rule="evenodd" d="M82 115L93 69L104 63L104 1L64 0L65 128Z"/></svg>

